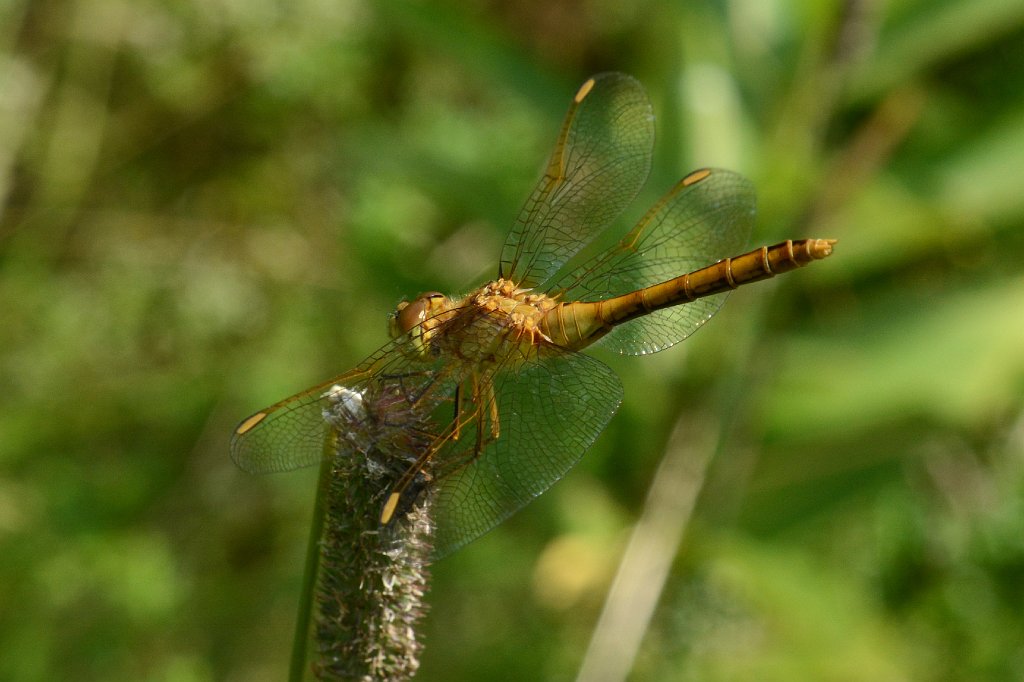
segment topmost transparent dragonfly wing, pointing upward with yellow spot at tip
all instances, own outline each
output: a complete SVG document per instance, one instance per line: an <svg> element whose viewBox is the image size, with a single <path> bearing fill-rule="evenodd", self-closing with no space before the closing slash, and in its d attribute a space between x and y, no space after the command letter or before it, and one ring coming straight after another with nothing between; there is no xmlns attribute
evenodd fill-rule
<svg viewBox="0 0 1024 682"><path fill-rule="evenodd" d="M551 278L633 201L653 146L654 115L640 83L614 73L587 81L505 242L501 276L524 288Z"/></svg>

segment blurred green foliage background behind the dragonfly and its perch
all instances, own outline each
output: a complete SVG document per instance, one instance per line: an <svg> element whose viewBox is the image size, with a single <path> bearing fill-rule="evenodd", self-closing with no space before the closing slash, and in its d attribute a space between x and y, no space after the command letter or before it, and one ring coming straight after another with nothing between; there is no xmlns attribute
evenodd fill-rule
<svg viewBox="0 0 1024 682"><path fill-rule="evenodd" d="M492 274L607 70L622 228L721 166L836 255L598 352L618 416L434 567L419 679L572 679L624 556L630 679L1024 678L1019 0L0 3L0 678L285 677L315 472L232 427Z"/></svg>

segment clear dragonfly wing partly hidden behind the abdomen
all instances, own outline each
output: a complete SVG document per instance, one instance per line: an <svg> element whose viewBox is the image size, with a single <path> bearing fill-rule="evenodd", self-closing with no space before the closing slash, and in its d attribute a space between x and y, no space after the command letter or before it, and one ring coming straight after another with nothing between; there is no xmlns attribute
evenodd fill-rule
<svg viewBox="0 0 1024 682"><path fill-rule="evenodd" d="M550 293L596 301L666 282L739 254L757 198L736 173L702 169L680 180L610 251L568 273ZM621 325L598 343L637 355L679 343L714 315L728 294L657 310Z"/></svg>

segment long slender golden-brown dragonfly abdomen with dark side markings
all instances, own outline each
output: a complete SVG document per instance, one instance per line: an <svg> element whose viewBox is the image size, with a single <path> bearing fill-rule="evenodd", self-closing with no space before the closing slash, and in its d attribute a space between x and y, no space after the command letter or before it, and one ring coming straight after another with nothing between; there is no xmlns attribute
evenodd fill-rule
<svg viewBox="0 0 1024 682"><path fill-rule="evenodd" d="M786 240L614 298L562 303L545 315L543 329L559 345L584 348L615 326L655 310L721 294L826 258L835 243Z"/></svg>

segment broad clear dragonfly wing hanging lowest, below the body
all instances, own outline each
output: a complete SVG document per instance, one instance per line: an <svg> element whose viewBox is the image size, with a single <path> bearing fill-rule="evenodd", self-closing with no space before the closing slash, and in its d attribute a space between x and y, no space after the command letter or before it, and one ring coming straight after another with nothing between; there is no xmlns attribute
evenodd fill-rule
<svg viewBox="0 0 1024 682"><path fill-rule="evenodd" d="M435 558L486 532L561 478L622 401L622 384L599 360L546 346L535 363L499 373L501 435L479 455L453 443L434 496Z"/></svg>

